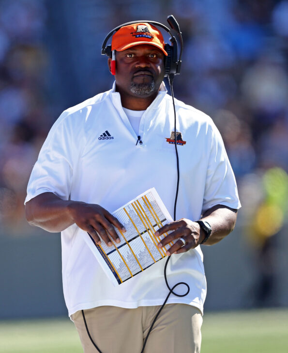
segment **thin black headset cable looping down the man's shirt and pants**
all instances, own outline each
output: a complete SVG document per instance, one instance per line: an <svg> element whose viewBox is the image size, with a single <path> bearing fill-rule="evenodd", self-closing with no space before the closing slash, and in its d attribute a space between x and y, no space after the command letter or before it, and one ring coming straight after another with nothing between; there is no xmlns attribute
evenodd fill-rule
<svg viewBox="0 0 288 353"><path fill-rule="evenodd" d="M172 85L173 85L173 79L174 79L174 75L173 75L173 74L170 74L170 75L168 76L168 81L169 81L169 85L170 85L170 91L171 91L172 102L173 102L173 108L174 108L174 138L175 138L175 152L176 152L176 163L177 163L177 185L176 185L176 194L175 194L175 201L174 201L174 221L176 221L176 204L177 204L177 198L178 198L180 172L179 172L179 157L178 157L178 151L177 151L177 136L176 136L176 109L175 109L174 94L173 94L173 86L172 86ZM139 140L139 137L140 137L140 136L138 136L138 140ZM143 344L141 353L144 353L144 349L145 349L145 346L146 346L146 343L147 343L147 339L148 339L148 337L149 337L149 335L150 335L150 333L151 333L151 331L152 331L152 328L153 328L153 326L154 326L154 323L156 322L156 320L157 320L158 316L160 315L162 309L164 308L165 304L167 303L167 300L168 300L170 294L172 293L172 294L174 294L176 297L185 297L185 296L189 293L189 291L190 291L189 285L188 285L187 283L185 283L185 282L178 282L178 283L176 283L172 288L169 287L169 284L168 284L168 281L167 281L167 274L166 274L167 264L168 264L169 260L170 260L170 256L167 257L167 261L166 261L165 267L164 267L164 278L165 278L166 286L167 286L167 288L169 289L169 293L168 293L168 295L167 295L167 297L166 297L164 303L162 304L161 308L158 310L158 312L157 312L157 314L156 314L156 316L155 316L155 318L154 318L154 320L153 320L153 322L152 322L152 324L151 324L151 326L150 326L150 329L149 329L148 334L147 334L147 336L146 336L146 338L145 338L145 341L144 341L144 344ZM187 287L186 293L184 293L184 294L177 294L177 293L175 293L173 290L174 290L176 287L180 286L181 284ZM86 320L85 320L84 310L82 310L82 316L83 316L83 320L84 320L84 323L85 323L85 327L86 327L87 334L88 334L88 336L89 336L89 338L90 338L90 340L91 340L93 346L97 349L97 351L98 351L99 353L102 353L102 352L100 351L100 349L96 346L96 344L94 343L94 341L93 341L93 339L92 339L92 337L91 337L91 335L90 335L90 332L89 332L88 326L87 326L87 322L86 322Z"/></svg>

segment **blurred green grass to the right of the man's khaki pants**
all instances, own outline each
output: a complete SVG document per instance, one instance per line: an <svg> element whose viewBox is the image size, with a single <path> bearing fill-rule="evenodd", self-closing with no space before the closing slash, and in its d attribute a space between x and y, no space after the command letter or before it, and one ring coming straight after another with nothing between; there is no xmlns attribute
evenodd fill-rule
<svg viewBox="0 0 288 353"><path fill-rule="evenodd" d="M288 310L204 315L201 353L287 353Z"/></svg>

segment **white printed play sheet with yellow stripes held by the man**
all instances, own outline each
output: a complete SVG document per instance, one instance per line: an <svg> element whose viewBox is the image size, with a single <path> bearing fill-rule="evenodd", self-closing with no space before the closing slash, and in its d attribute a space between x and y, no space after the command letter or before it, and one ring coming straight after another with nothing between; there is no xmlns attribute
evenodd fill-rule
<svg viewBox="0 0 288 353"><path fill-rule="evenodd" d="M154 188L112 214L126 229L122 233L115 228L120 243L111 240L112 246L107 246L104 241L98 245L87 233L83 236L107 276L114 285L119 285L166 257L165 252L172 243L159 249L157 244L167 233L160 237L155 237L154 233L173 219Z"/></svg>

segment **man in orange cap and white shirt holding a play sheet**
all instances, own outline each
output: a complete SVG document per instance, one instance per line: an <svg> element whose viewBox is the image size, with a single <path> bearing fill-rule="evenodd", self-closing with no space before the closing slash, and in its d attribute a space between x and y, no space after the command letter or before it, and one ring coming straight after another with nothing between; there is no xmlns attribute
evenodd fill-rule
<svg viewBox="0 0 288 353"><path fill-rule="evenodd" d="M133 35L138 26L145 26L145 36ZM167 52L162 34L149 23L125 26L113 35L112 50L112 90L61 114L40 151L26 198L30 224L61 231L64 297L85 353L97 352L91 340L103 353L140 352L167 296L165 260L115 288L80 234L88 232L98 244L119 242L114 227L125 230L110 212L152 187L173 213L177 170L169 139L174 113L163 83ZM111 72L111 59L108 66ZM178 145L177 203L177 218L182 218L158 230L158 235L173 230L158 246L177 240L167 251L167 280L171 287L186 282L190 292L170 295L146 353L200 351L206 280L198 245L212 245L231 232L240 208L212 120L178 100L176 112L183 142ZM206 224L195 222L201 215Z"/></svg>

